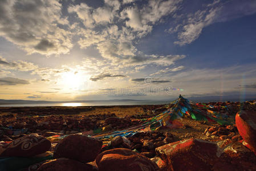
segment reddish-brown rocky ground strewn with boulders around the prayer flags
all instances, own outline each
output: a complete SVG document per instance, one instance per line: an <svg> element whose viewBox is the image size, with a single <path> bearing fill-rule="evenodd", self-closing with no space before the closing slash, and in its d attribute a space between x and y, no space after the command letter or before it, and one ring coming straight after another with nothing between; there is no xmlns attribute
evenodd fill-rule
<svg viewBox="0 0 256 171"><path fill-rule="evenodd" d="M243 139L238 131L241 126L238 129L236 124L219 125L185 117L179 120L182 125L178 128L162 127L128 138L117 136L107 145L103 145L104 140L81 134L133 127L164 110L164 105L2 107L0 157L34 157L49 151L49 159L55 158L44 158L23 166L23 170L256 170L255 137L243 135ZM243 120L251 116L249 123L256 123L255 113ZM254 125L245 127L250 128L250 134L256 133ZM58 142L50 139L63 135L69 136Z"/></svg>

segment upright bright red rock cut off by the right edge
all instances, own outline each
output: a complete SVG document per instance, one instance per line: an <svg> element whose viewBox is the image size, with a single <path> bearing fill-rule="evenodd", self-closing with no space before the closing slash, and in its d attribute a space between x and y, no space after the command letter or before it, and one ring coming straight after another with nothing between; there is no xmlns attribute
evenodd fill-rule
<svg viewBox="0 0 256 171"><path fill-rule="evenodd" d="M235 124L243 140L256 152L256 112L238 112L237 115L235 115Z"/></svg>

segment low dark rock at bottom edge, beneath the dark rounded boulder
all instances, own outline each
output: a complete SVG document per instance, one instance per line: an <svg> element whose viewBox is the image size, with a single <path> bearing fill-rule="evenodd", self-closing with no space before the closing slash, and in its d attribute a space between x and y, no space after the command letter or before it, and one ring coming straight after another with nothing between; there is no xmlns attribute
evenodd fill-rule
<svg viewBox="0 0 256 171"><path fill-rule="evenodd" d="M68 158L58 158L45 162L36 171L93 171L95 170L92 165L84 164L82 162L71 160Z"/></svg>

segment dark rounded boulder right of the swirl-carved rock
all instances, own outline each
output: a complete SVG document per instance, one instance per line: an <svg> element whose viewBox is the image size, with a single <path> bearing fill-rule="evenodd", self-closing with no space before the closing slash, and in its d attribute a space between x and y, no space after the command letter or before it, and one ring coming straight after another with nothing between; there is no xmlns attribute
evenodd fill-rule
<svg viewBox="0 0 256 171"><path fill-rule="evenodd" d="M70 135L55 147L54 158L66 157L81 162L94 161L101 151L102 142L83 135Z"/></svg>

